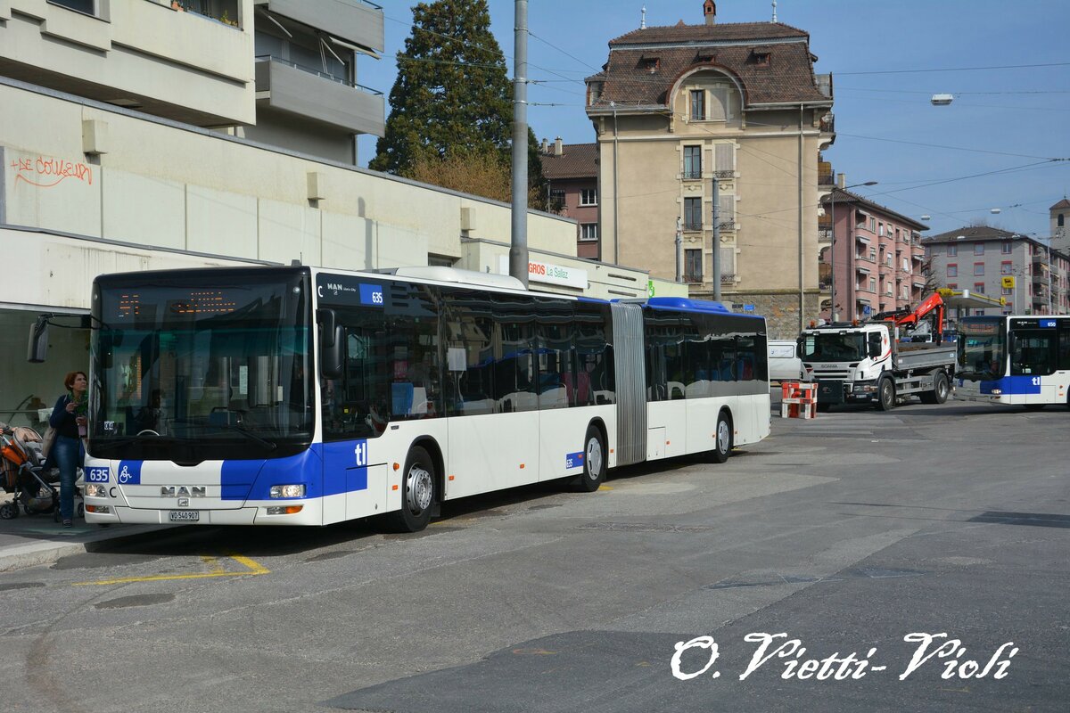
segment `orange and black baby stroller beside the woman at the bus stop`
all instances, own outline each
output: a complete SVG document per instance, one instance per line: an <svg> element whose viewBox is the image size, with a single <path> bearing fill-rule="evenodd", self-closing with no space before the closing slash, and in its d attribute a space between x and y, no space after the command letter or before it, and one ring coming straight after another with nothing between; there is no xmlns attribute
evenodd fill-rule
<svg viewBox="0 0 1070 713"><path fill-rule="evenodd" d="M33 429L0 423L0 485L14 495L11 502L0 505L0 520L18 517L21 506L28 515L52 513L59 522L59 470L45 468L41 447L41 435ZM75 483L75 495L81 495L80 482ZM77 508L82 516L85 506L78 502Z"/></svg>

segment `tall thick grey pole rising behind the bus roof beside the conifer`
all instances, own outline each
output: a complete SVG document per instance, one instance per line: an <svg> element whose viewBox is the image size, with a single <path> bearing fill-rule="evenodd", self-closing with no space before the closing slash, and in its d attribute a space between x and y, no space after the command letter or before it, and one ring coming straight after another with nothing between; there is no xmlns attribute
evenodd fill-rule
<svg viewBox="0 0 1070 713"><path fill-rule="evenodd" d="M516 0L513 69L513 241L509 275L528 286L528 0Z"/></svg>

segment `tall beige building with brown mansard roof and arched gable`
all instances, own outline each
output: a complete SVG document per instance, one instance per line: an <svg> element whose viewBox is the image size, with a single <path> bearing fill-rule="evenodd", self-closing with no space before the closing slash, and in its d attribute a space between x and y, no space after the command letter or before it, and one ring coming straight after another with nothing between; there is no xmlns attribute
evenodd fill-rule
<svg viewBox="0 0 1070 713"><path fill-rule="evenodd" d="M701 4L703 24L611 40L603 71L586 79L600 254L673 279L678 223L692 295L709 298L716 283L725 301L765 314L775 336L794 337L819 313L831 76L814 74L807 32L718 25L713 0Z"/></svg>

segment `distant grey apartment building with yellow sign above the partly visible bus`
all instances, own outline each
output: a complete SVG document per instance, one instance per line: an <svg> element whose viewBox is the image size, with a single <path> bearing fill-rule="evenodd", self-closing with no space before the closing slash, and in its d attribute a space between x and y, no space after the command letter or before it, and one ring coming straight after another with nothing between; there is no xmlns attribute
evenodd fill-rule
<svg viewBox="0 0 1070 713"><path fill-rule="evenodd" d="M1067 314L1070 257L1040 241L988 226L922 239L935 288L1002 296L1004 314ZM1005 278L1013 278L1004 283ZM1011 282L1013 284L1011 284ZM996 310L972 310L973 314Z"/></svg>

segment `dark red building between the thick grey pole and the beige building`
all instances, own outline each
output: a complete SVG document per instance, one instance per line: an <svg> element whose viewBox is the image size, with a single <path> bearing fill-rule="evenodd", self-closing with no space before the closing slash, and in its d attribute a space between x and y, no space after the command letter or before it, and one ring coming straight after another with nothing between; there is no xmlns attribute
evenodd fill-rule
<svg viewBox="0 0 1070 713"><path fill-rule="evenodd" d="M598 146L542 140L550 211L577 222L576 254L598 260Z"/></svg>

